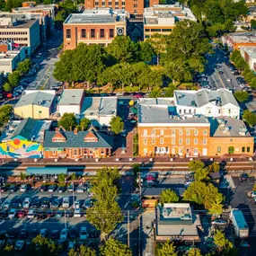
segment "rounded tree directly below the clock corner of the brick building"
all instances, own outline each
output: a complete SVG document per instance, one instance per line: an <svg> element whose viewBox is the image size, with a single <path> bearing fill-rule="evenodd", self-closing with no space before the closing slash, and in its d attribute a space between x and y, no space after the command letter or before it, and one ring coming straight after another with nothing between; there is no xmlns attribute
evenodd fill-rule
<svg viewBox="0 0 256 256"><path fill-rule="evenodd" d="M118 62L135 62L138 56L137 44L128 36L117 36L106 48L106 51Z"/></svg>

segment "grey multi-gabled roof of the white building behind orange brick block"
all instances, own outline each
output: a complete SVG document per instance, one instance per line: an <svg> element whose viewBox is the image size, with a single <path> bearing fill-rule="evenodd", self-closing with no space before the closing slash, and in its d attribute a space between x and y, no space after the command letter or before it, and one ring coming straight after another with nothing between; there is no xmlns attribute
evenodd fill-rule
<svg viewBox="0 0 256 256"><path fill-rule="evenodd" d="M226 89L208 90L201 89L199 91L174 91L174 98L177 105L190 106L199 108L211 102L217 106L225 106L232 103L239 107L234 99L233 93Z"/></svg>

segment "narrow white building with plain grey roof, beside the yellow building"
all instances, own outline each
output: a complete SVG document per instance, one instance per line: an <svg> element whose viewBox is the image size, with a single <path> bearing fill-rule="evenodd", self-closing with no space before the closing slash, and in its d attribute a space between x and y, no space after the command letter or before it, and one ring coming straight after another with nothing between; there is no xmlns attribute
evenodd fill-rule
<svg viewBox="0 0 256 256"><path fill-rule="evenodd" d="M57 113L62 117L65 113L80 115L84 102L84 89L66 89L57 102Z"/></svg>

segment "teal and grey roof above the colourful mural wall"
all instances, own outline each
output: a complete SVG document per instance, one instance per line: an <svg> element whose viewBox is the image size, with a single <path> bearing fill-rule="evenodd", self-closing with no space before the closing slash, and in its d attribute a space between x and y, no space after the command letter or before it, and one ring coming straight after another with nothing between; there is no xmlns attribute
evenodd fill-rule
<svg viewBox="0 0 256 256"><path fill-rule="evenodd" d="M0 137L1 142L7 142L13 137L22 136L28 140L42 142L44 130L51 125L49 120L23 119L22 121L11 121Z"/></svg>

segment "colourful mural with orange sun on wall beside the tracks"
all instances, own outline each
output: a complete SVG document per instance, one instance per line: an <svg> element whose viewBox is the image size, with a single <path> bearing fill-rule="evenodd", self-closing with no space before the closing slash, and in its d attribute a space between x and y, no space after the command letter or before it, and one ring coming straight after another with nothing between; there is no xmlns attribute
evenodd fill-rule
<svg viewBox="0 0 256 256"><path fill-rule="evenodd" d="M41 158L42 145L28 141L24 137L13 137L8 142L0 143L0 158Z"/></svg>

